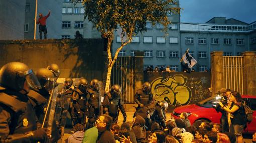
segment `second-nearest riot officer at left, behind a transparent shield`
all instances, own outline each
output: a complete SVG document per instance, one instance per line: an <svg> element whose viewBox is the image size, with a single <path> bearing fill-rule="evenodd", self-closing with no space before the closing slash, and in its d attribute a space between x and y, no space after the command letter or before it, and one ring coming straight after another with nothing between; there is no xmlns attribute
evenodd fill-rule
<svg viewBox="0 0 256 143"><path fill-rule="evenodd" d="M41 89L32 89L29 91L28 96L33 100L33 108L36 112L39 122L42 124L46 113L47 103L50 97L50 92L55 87L55 77L50 70L40 68L36 72L36 77L41 85ZM52 136L51 142L56 142L59 137L59 131L56 125L56 121L53 120L52 124Z"/></svg>

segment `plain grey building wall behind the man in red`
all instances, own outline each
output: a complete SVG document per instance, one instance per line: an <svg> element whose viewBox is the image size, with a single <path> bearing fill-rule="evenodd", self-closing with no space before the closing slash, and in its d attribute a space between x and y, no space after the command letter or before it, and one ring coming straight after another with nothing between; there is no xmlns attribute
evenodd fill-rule
<svg viewBox="0 0 256 143"><path fill-rule="evenodd" d="M61 37L61 8L63 0L38 0L37 19L38 14L42 13L43 16L48 14L51 10L51 15L46 20L47 38L58 39ZM35 19L35 0L26 0L30 5L30 11L26 12L25 23L29 24L29 31L25 32L24 39L34 38L34 19ZM36 39L39 39L38 25L36 27ZM44 38L44 35L42 36Z"/></svg>

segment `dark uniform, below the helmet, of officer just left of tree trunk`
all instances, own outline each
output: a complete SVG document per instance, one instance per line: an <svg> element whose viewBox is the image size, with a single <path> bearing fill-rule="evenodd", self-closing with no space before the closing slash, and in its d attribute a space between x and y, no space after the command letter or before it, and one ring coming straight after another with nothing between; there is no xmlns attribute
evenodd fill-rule
<svg viewBox="0 0 256 143"><path fill-rule="evenodd" d="M89 112L88 112L88 118L97 118L99 116L99 91L94 89L93 87L89 87L88 90L88 107L89 107Z"/></svg>

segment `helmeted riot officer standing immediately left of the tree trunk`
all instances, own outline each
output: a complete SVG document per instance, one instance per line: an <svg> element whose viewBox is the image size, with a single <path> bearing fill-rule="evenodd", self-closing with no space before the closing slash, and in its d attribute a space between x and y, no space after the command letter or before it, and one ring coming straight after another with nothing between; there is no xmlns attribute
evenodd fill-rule
<svg viewBox="0 0 256 143"><path fill-rule="evenodd" d="M100 113L100 96L99 96L99 80L92 79L90 82L90 86L87 90L88 95L88 107L89 107L89 113L88 118L97 118Z"/></svg>

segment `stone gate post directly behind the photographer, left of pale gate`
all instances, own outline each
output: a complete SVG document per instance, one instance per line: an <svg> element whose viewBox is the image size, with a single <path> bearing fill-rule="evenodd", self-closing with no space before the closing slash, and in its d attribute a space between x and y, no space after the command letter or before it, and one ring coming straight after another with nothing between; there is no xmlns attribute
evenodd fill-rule
<svg viewBox="0 0 256 143"><path fill-rule="evenodd" d="M211 88L212 95L224 87L223 51L211 52Z"/></svg>

